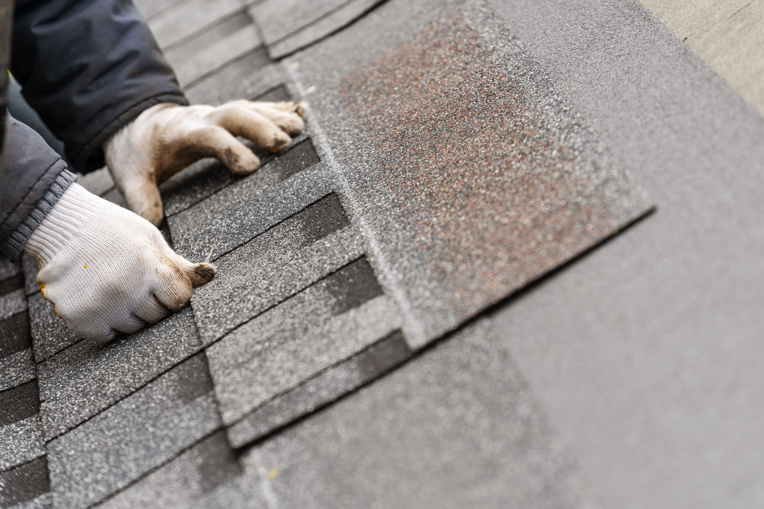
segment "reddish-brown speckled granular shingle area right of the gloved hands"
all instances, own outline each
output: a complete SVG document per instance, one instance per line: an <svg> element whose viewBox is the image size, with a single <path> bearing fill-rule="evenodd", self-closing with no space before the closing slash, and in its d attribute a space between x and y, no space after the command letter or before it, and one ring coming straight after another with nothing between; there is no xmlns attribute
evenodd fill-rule
<svg viewBox="0 0 764 509"><path fill-rule="evenodd" d="M520 43L479 8L469 16L427 27L339 90L347 182L379 205L364 214L421 323L415 345L649 210Z"/></svg>

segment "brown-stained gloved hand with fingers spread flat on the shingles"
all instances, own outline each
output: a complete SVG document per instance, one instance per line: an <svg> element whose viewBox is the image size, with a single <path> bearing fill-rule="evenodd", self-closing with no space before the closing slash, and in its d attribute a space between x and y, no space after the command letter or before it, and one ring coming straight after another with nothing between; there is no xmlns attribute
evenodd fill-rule
<svg viewBox="0 0 764 509"><path fill-rule="evenodd" d="M155 225L162 222L157 185L202 157L215 156L239 175L260 159L237 136L274 152L303 130L299 102L231 101L225 105L148 108L103 143L106 165L131 210Z"/></svg>

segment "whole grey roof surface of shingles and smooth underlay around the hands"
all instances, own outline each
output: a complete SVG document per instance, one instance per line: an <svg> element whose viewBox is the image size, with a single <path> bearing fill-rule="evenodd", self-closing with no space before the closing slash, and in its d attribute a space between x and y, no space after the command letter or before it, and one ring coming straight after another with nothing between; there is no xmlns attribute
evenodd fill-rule
<svg viewBox="0 0 764 509"><path fill-rule="evenodd" d="M302 99L306 133L162 185L218 273L131 337L0 264L0 507L762 496L764 119L645 8L138 6L191 101Z"/></svg>

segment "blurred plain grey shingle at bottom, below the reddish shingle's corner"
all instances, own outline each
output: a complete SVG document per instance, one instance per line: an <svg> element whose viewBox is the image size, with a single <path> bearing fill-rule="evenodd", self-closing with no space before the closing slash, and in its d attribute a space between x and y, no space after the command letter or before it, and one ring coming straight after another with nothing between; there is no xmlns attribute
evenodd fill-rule
<svg viewBox="0 0 764 509"><path fill-rule="evenodd" d="M596 507L488 320L241 460L270 507Z"/></svg>

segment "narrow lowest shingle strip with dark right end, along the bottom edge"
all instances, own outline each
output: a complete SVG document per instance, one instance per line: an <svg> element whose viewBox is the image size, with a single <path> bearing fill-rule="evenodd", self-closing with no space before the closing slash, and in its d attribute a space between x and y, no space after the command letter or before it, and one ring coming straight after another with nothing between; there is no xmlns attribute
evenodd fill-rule
<svg viewBox="0 0 764 509"><path fill-rule="evenodd" d="M377 379L411 356L398 330L254 409L228 427L228 440L231 446L245 446Z"/></svg>

